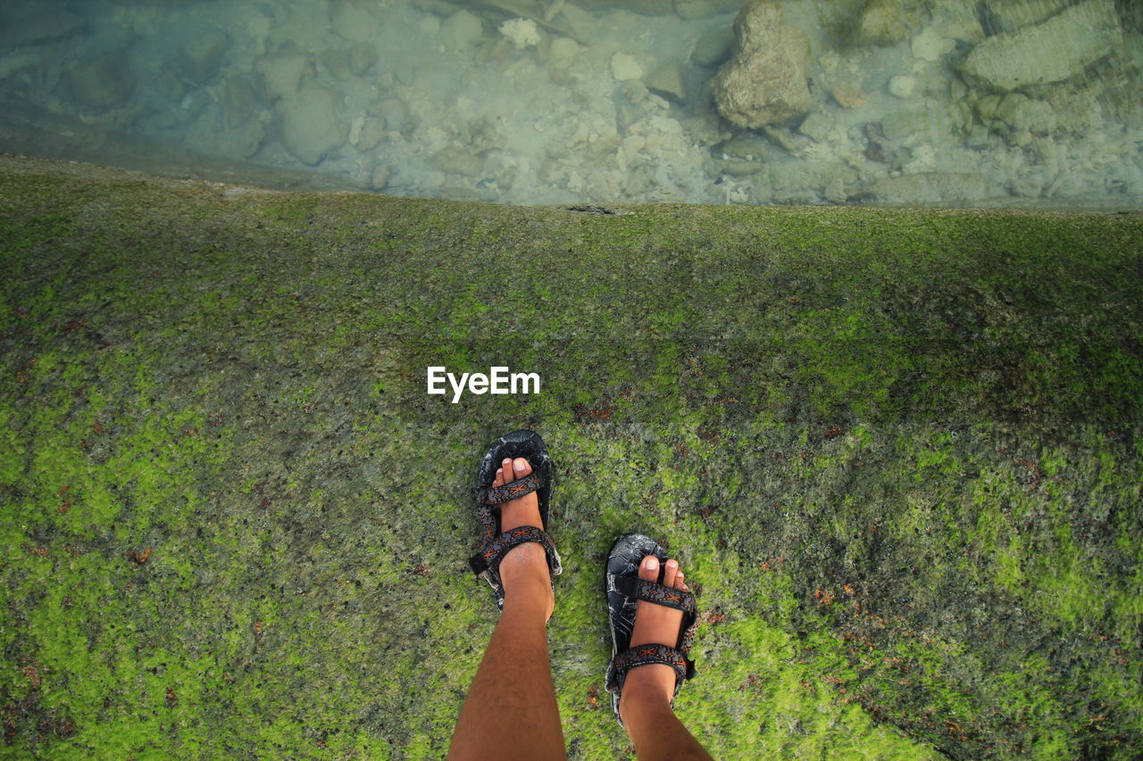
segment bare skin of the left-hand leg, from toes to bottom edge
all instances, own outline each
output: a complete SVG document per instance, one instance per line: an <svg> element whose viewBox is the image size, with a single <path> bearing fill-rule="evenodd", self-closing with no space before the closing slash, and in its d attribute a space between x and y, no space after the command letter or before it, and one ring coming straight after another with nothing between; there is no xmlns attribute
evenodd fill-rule
<svg viewBox="0 0 1143 761"><path fill-rule="evenodd" d="M513 473L505 459L495 484L531 472L522 457L514 466ZM501 505L501 528L518 526L541 526L535 492ZM554 600L543 547L534 542L514 547L501 561L499 574L504 611L464 700L448 758L566 759L547 657Z"/></svg>

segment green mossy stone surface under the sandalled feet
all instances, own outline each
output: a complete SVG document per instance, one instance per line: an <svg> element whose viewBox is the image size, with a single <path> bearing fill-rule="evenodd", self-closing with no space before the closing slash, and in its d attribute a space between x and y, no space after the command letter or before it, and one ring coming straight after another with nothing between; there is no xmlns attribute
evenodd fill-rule
<svg viewBox="0 0 1143 761"><path fill-rule="evenodd" d="M570 758L631 756L628 531L698 587L716 758L1137 752L1143 217L607 210L0 160L2 754L442 756L518 427Z"/></svg>

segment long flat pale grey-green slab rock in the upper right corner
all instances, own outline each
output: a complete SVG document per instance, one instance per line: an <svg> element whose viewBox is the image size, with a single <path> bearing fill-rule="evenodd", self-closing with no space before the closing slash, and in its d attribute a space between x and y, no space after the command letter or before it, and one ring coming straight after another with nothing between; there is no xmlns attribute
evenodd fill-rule
<svg viewBox="0 0 1143 761"><path fill-rule="evenodd" d="M999 90L1062 82L1122 42L1113 0L1086 0L1048 21L984 40L964 72Z"/></svg>

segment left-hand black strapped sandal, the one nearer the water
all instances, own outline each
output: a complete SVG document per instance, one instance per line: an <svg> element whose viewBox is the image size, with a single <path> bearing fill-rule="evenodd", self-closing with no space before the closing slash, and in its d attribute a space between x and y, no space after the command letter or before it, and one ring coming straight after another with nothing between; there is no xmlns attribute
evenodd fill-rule
<svg viewBox="0 0 1143 761"><path fill-rule="evenodd" d="M505 457L523 457L531 464L531 473L511 483L494 487L496 468ZM555 592L555 577L563 568L555 545L547 536L547 506L552 497L552 475L554 467L547 456L547 448L538 433L531 431L513 431L501 436L494 443L485 458L480 460L477 473L477 514L483 529L485 548L469 559L477 576L483 576L491 585L496 595L496 607L504 610L504 585L501 583L499 563L510 550L525 542L538 542L547 555L547 569L552 577L552 593ZM511 531L501 531L501 503L518 499L535 491L539 503L539 519L543 527L521 526Z"/></svg>

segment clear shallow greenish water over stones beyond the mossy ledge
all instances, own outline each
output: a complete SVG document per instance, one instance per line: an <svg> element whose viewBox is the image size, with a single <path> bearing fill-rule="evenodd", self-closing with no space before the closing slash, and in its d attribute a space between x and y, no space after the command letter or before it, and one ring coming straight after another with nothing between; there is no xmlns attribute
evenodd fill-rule
<svg viewBox="0 0 1143 761"><path fill-rule="evenodd" d="M714 85L742 5L6 0L0 151L526 205L1143 206L1135 2L778 2L762 48L793 53L752 75L805 94L745 127Z"/></svg>

